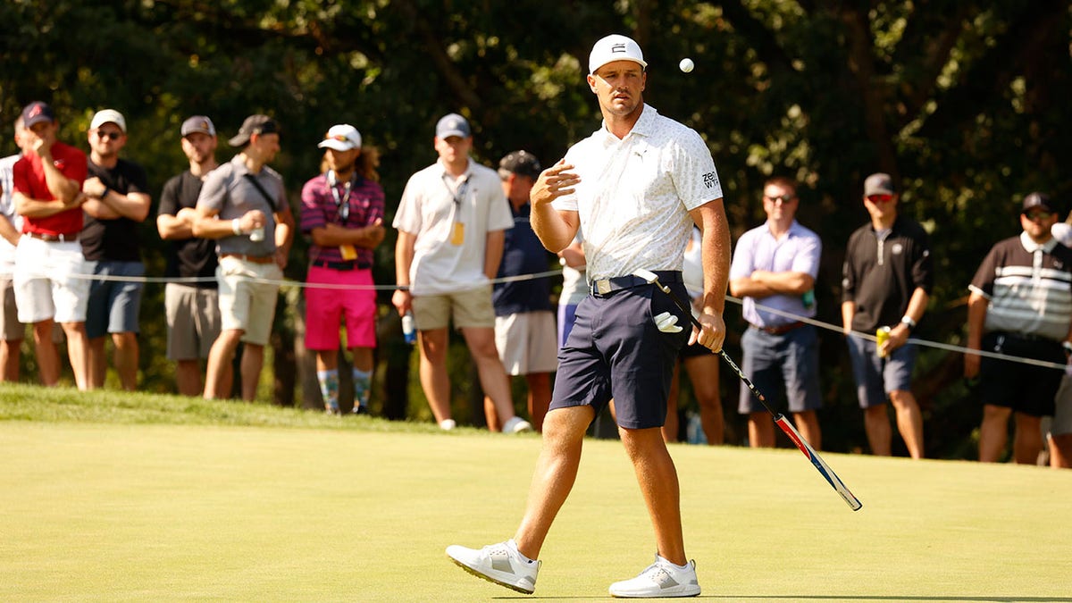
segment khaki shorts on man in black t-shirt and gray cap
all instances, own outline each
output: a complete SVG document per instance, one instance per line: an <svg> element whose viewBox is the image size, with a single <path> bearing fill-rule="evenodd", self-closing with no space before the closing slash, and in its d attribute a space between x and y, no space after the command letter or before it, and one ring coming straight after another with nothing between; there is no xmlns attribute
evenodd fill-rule
<svg viewBox="0 0 1072 603"><path fill-rule="evenodd" d="M167 358L207 358L220 336L220 294L214 289L169 282L164 288Z"/></svg>

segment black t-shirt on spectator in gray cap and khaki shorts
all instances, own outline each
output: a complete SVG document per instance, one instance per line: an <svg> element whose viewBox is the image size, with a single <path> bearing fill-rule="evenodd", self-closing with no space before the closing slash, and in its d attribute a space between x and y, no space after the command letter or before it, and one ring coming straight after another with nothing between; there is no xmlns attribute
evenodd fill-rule
<svg viewBox="0 0 1072 603"><path fill-rule="evenodd" d="M160 209L158 216L177 216L183 207L196 207L197 195L200 193L202 179L189 170L173 177L164 185L160 193ZM208 238L191 237L173 240L167 250L167 278L207 277L210 280L194 284L195 286L215 289L215 241Z"/></svg>

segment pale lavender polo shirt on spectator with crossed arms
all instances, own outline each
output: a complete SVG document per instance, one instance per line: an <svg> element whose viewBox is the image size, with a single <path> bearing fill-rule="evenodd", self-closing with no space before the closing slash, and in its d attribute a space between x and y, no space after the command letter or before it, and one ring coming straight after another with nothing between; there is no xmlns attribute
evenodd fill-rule
<svg viewBox="0 0 1072 603"><path fill-rule="evenodd" d="M741 235L733 251L730 280L749 277L756 270L804 273L816 278L821 253L822 241L819 235L800 225L796 220L793 220L789 232L781 238L774 238L771 229L764 223ZM816 313L815 303L807 307L799 295L771 295L758 303L792 314L781 315L759 309L755 297L745 297L742 307L744 320L760 327L781 326L795 322L794 317L812 318Z"/></svg>

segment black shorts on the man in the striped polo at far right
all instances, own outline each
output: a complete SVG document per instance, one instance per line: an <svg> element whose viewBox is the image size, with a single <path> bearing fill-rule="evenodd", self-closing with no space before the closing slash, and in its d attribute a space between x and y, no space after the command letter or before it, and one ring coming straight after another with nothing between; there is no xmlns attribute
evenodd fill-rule
<svg viewBox="0 0 1072 603"><path fill-rule="evenodd" d="M1025 339L1010 333L987 333L983 351L1063 365L1064 350L1052 339ZM1012 409L1031 416L1054 414L1054 397L1064 371L983 356L979 363L979 392L984 405Z"/></svg>

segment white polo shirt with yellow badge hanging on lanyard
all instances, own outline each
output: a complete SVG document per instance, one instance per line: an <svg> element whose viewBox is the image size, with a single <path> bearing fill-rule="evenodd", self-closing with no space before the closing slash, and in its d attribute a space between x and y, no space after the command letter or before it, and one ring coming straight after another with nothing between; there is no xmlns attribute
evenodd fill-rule
<svg viewBox="0 0 1072 603"><path fill-rule="evenodd" d="M411 292L440 295L488 284L488 233L513 227L513 215L494 170L470 159L456 180L437 161L410 177L392 225L417 237Z"/></svg>

